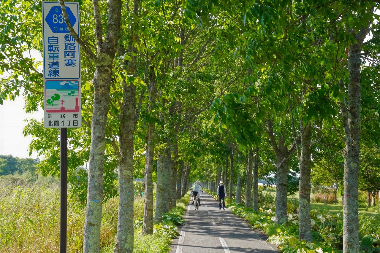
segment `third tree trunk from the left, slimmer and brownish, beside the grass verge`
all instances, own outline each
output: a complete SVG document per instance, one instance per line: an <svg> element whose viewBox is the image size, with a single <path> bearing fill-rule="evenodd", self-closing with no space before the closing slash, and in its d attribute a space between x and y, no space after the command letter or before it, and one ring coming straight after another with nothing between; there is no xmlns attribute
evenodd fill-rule
<svg viewBox="0 0 380 253"><path fill-rule="evenodd" d="M152 112L156 105L157 86L156 75L154 68L150 68L149 78L149 112ZM153 157L154 146L152 144L154 139L155 122L149 122L146 133L146 161L145 161L145 189L144 189L144 217L142 218L142 233L153 233Z"/></svg>

